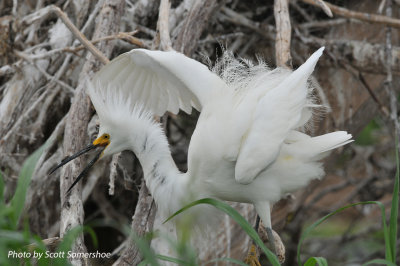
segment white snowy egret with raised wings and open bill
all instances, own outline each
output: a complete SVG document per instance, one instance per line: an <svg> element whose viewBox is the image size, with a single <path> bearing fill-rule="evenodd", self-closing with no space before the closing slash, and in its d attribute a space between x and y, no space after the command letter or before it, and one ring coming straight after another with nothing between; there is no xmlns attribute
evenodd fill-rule
<svg viewBox="0 0 400 266"><path fill-rule="evenodd" d="M254 204L271 228L271 204L320 178L320 160L351 142L344 131L317 137L298 131L316 106L308 78L323 49L296 71L271 71L263 63L243 70L236 61L221 77L175 51L122 54L88 82L100 121L98 138L57 167L102 147L75 185L98 158L131 150L165 216L192 200L213 197ZM190 113L192 107L201 113L189 145L188 171L182 173L153 115Z"/></svg>

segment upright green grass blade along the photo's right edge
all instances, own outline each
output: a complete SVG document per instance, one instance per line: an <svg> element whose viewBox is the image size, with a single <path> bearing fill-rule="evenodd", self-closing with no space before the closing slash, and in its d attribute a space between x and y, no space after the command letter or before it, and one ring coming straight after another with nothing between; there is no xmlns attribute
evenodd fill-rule
<svg viewBox="0 0 400 266"><path fill-rule="evenodd" d="M389 220L389 236L390 236L390 252L392 262L396 262L396 247L397 247L397 219L399 216L399 140L396 130L395 145L396 145L396 176L394 179L394 188L392 196L392 207L390 210L390 220ZM389 258L386 257L388 260Z"/></svg>

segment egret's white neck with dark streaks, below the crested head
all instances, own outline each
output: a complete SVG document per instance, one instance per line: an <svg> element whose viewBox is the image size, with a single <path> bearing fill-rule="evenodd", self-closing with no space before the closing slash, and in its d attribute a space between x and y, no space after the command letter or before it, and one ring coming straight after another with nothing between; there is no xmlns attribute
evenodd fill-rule
<svg viewBox="0 0 400 266"><path fill-rule="evenodd" d="M186 183L171 156L167 138L159 124L142 126L135 134L133 150L143 168L144 179L157 206L170 215L181 206ZM139 133L139 132L137 132Z"/></svg>

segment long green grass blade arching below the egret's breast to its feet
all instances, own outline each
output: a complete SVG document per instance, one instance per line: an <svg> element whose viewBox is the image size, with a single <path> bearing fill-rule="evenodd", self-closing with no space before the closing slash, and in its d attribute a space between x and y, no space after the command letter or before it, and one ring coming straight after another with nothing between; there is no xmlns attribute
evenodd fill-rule
<svg viewBox="0 0 400 266"><path fill-rule="evenodd" d="M215 208L225 212L226 214L228 214L232 219L234 219L239 225L240 227L242 227L242 229L247 233L247 235L254 240L254 242L261 248L261 250L265 253L265 255L267 256L268 260L271 262L272 265L274 266L279 266L279 261L278 258L275 256L274 253L272 253L262 242L262 240L260 239L260 237L258 236L257 232L253 229L253 227L246 221L246 219L244 219L234 208L232 208L231 206L229 206L228 204L218 201L216 199L210 199L210 198L205 198L205 199L200 199L200 200L196 200L188 205L186 205L185 207L183 207L182 209L180 209L179 211L177 211L176 213L174 213L171 217L169 217L164 223L168 222L169 220L171 220L172 218L174 218L175 216L177 216L178 214L186 211L187 209L199 205L199 204L209 204L214 206Z"/></svg>

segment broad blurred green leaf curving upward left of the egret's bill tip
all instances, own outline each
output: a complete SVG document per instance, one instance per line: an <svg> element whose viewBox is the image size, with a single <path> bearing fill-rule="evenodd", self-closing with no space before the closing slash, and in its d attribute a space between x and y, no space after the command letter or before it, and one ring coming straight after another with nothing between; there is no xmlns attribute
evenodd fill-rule
<svg viewBox="0 0 400 266"><path fill-rule="evenodd" d="M18 176L17 189L15 190L15 194L12 197L10 204L11 209L13 210L11 219L15 229L18 226L18 221L24 209L26 191L28 190L28 186L31 182L36 163L38 162L48 143L49 141L46 141L39 149L32 153L22 165L21 172Z"/></svg>

